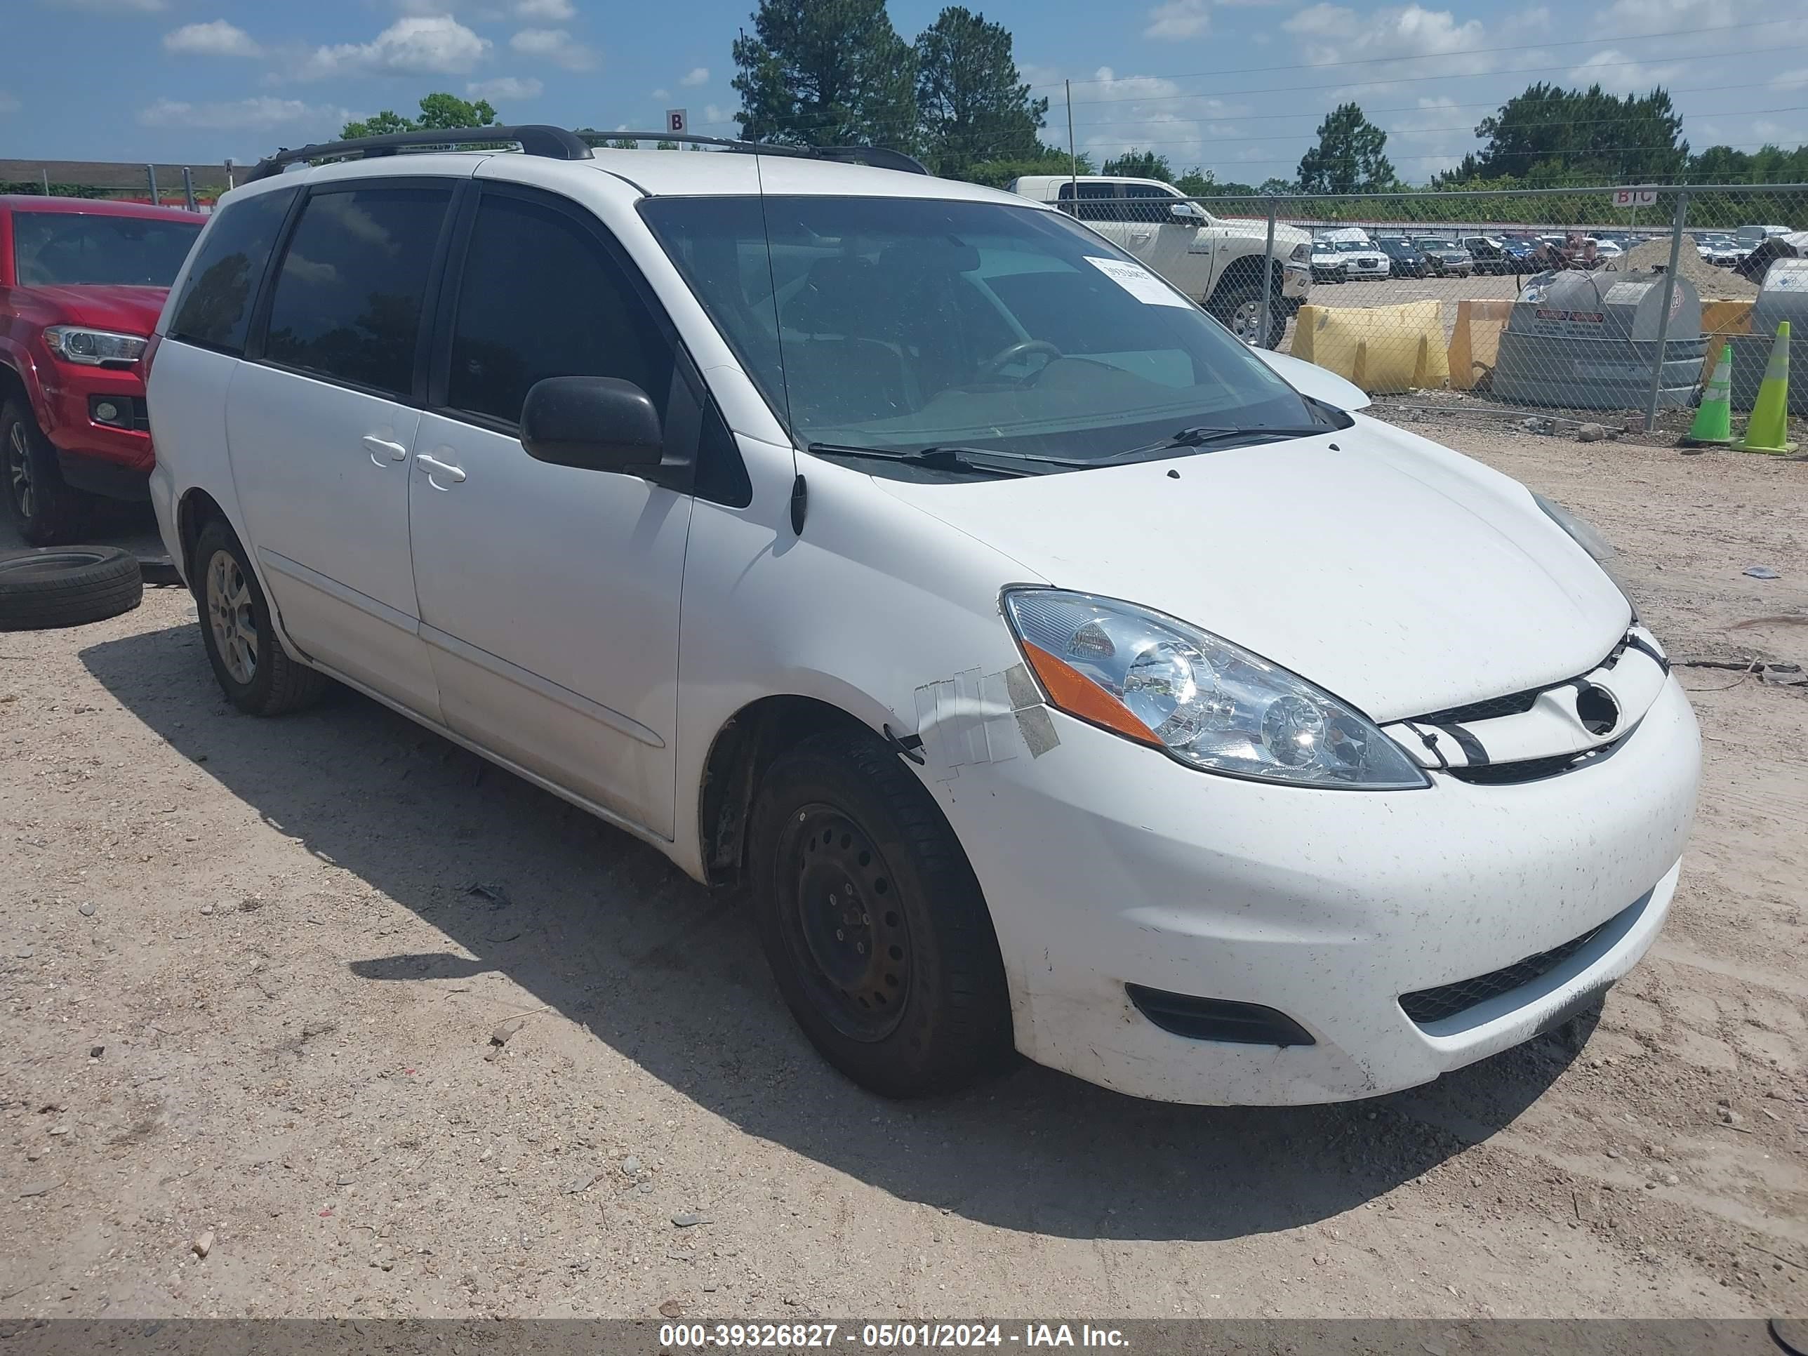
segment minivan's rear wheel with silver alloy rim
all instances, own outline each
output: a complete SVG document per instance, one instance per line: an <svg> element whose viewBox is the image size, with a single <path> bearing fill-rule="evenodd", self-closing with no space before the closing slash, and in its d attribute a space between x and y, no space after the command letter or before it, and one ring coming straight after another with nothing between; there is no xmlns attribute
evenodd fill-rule
<svg viewBox="0 0 1808 1356"><path fill-rule="evenodd" d="M282 716L320 700L333 680L282 649L264 589L224 519L201 528L192 582L201 644L228 702L251 716Z"/></svg>

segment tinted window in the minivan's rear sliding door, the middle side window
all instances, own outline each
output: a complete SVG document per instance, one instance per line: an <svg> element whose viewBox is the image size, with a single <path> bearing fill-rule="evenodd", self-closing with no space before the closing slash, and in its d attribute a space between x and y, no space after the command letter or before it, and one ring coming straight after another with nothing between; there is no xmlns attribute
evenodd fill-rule
<svg viewBox="0 0 1808 1356"><path fill-rule="evenodd" d="M277 271L264 356L405 398L450 201L438 184L311 195Z"/></svg>

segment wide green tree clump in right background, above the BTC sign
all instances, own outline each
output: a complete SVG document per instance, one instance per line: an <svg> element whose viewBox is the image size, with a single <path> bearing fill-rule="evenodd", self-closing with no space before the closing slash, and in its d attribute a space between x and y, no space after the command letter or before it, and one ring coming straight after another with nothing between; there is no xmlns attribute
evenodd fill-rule
<svg viewBox="0 0 1808 1356"><path fill-rule="evenodd" d="M1530 85L1483 118L1475 136L1488 145L1474 157L1472 177L1511 175L1537 184L1662 183L1689 163L1683 119L1663 89L1616 96Z"/></svg>

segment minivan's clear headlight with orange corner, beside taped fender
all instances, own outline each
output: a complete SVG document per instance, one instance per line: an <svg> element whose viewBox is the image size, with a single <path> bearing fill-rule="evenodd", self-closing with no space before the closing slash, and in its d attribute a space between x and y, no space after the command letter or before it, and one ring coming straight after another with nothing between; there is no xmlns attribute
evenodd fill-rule
<svg viewBox="0 0 1808 1356"><path fill-rule="evenodd" d="M1011 589L1049 702L1202 772L1407 790L1425 774L1365 716L1258 654L1128 602Z"/></svg>

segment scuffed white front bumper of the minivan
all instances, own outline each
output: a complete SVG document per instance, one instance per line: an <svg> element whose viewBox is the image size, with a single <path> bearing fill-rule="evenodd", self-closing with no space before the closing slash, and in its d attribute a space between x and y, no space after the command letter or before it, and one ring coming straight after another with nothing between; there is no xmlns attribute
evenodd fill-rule
<svg viewBox="0 0 1808 1356"><path fill-rule="evenodd" d="M938 783L993 911L1018 1049L1188 1103L1392 1092L1575 1011L1663 926L1701 761L1674 678L1613 758L1502 786L1235 781L1052 718L1059 745L1040 758ZM1421 1027L1399 1005L1587 933L1555 969L1457 1016ZM1273 1007L1314 1043L1175 1036L1126 984Z"/></svg>

